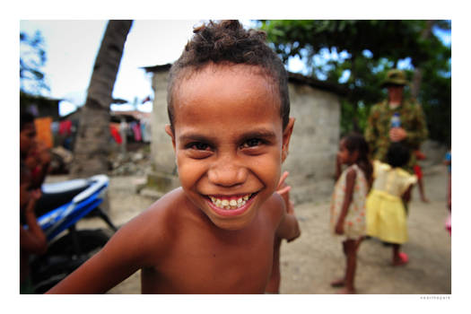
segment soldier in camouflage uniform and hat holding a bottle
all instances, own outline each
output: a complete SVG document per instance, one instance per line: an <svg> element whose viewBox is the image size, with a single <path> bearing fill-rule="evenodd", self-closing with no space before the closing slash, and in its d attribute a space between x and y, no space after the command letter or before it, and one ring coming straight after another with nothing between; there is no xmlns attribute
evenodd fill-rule
<svg viewBox="0 0 471 314"><path fill-rule="evenodd" d="M388 88L388 100L383 100L371 108L365 128L365 139L370 145L371 158L386 162L386 153L391 142L402 142L411 150L411 158L405 170L414 174L417 162L414 150L427 138L428 130L422 106L415 100L403 99L406 74L400 70L390 70L381 87ZM401 126L391 128L391 118L398 113Z"/></svg>

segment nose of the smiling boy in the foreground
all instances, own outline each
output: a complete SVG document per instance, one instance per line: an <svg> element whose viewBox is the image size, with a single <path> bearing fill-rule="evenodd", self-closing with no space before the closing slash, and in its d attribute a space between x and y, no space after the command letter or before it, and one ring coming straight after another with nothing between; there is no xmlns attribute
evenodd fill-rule
<svg viewBox="0 0 471 314"><path fill-rule="evenodd" d="M245 182L247 169L238 162L224 158L211 167L208 171L208 179L215 185L231 188Z"/></svg>

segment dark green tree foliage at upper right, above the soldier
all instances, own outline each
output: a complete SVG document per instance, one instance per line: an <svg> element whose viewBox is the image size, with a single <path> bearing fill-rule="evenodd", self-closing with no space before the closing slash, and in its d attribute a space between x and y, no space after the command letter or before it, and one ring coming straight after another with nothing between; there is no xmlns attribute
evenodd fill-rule
<svg viewBox="0 0 471 314"><path fill-rule="evenodd" d="M363 130L371 106L387 96L380 83L388 70L410 60L409 81L415 69L423 73L417 99L430 137L449 143L451 50L433 33L450 31L449 21L271 20L261 21L260 28L285 64L300 57L309 75L345 85L349 92L342 100L342 134Z"/></svg>

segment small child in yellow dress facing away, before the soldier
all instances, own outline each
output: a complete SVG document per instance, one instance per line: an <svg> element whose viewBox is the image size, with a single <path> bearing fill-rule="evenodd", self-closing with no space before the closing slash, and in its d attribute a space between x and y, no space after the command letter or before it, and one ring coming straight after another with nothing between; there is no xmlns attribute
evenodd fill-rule
<svg viewBox="0 0 471 314"><path fill-rule="evenodd" d="M367 234L392 243L393 266L408 262L401 244L408 239L407 216L404 203L410 199L411 189L417 182L415 175L401 169L409 160L406 146L393 143L387 154L387 163L373 161L373 185L366 200Z"/></svg>

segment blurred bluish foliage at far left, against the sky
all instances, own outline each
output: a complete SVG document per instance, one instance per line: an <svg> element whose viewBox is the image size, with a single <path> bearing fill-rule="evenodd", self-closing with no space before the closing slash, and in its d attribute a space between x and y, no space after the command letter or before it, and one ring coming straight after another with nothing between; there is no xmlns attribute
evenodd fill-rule
<svg viewBox="0 0 471 314"><path fill-rule="evenodd" d="M39 31L34 36L20 32L20 91L41 95L49 91L41 68L46 64L44 39Z"/></svg>

